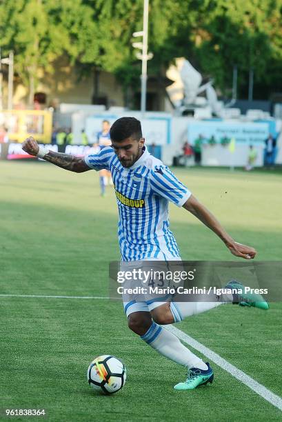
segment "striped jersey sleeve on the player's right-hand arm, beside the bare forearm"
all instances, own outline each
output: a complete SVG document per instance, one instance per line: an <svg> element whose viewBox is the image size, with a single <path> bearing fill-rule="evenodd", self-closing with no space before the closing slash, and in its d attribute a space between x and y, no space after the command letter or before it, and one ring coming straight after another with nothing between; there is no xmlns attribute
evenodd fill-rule
<svg viewBox="0 0 282 422"><path fill-rule="evenodd" d="M166 165L158 165L150 172L151 189L175 205L182 205L190 198L191 192L172 173Z"/></svg>

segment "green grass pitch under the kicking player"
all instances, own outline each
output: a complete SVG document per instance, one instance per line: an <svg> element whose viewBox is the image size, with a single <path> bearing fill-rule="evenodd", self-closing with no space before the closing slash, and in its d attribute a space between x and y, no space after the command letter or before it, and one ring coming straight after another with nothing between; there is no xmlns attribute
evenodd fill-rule
<svg viewBox="0 0 282 422"><path fill-rule="evenodd" d="M281 174L176 174L237 241L258 250L258 260L281 259ZM107 297L108 262L119 259L113 190L102 199L98 174L49 163L1 162L0 175L0 293ZM170 221L183 259L236 260L185 210L170 205ZM212 386L175 392L185 370L128 330L119 301L0 297L0 306L2 409L45 409L48 421L281 420L215 364ZM281 310L281 303L268 312L222 306L177 328L281 395ZM85 372L99 354L128 369L116 395L88 386Z"/></svg>

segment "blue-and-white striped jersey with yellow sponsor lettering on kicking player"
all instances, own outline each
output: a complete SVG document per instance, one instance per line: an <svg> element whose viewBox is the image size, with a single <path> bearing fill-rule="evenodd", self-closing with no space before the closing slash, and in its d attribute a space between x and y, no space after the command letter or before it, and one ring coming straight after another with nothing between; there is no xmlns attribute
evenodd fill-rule
<svg viewBox="0 0 282 422"><path fill-rule="evenodd" d="M123 261L172 260L179 248L169 228L169 201L181 207L188 188L159 159L143 148L130 168L124 168L112 147L85 157L94 170L110 170L119 208L119 247Z"/></svg>

